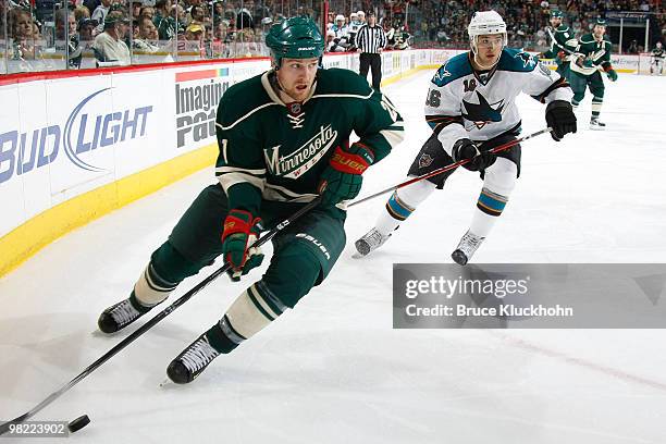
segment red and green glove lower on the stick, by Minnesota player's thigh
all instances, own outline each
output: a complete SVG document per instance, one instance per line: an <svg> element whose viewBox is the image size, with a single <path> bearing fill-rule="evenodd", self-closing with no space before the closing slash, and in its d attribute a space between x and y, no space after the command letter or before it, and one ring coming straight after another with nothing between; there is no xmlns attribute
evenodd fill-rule
<svg viewBox="0 0 666 444"><path fill-rule="evenodd" d="M231 266L229 275L232 281L239 281L242 275L263 261L260 248L249 248L259 237L259 223L261 219L254 218L244 210L231 210L224 219L222 233L222 254L224 260Z"/></svg>

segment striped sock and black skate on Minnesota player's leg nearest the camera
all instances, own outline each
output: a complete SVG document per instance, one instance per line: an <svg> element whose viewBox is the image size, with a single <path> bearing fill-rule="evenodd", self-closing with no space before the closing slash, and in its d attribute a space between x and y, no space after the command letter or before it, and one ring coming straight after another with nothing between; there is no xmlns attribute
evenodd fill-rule
<svg viewBox="0 0 666 444"><path fill-rule="evenodd" d="M171 361L166 374L178 384L192 382L214 358L234 350L286 308L262 281L257 282L236 298L218 323Z"/></svg>

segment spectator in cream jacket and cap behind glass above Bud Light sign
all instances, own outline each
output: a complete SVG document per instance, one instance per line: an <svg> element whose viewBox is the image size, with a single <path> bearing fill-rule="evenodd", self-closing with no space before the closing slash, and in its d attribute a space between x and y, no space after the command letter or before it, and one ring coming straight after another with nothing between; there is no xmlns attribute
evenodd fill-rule
<svg viewBox="0 0 666 444"><path fill-rule="evenodd" d="M127 33L130 21L123 17L120 11L109 12L104 18L104 30L97 37L92 44L95 58L98 62L103 62L106 65L128 65L131 63L130 49L123 41Z"/></svg>

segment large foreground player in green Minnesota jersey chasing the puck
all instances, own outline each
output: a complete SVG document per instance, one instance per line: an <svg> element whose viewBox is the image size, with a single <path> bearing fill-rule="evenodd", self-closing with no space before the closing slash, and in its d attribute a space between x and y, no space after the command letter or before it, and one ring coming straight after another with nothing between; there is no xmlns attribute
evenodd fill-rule
<svg viewBox="0 0 666 444"><path fill-rule="evenodd" d="M403 139L403 119L385 96L351 71L320 67L324 40L310 18L274 25L266 44L272 69L229 88L218 107L219 183L152 254L130 298L102 312L100 330L134 322L220 255L239 279L261 263L261 252L248 249L260 231L321 202L273 238L263 276L169 365L176 383L193 381L321 284L345 246L345 201ZM353 131L360 140L349 145Z"/></svg>

